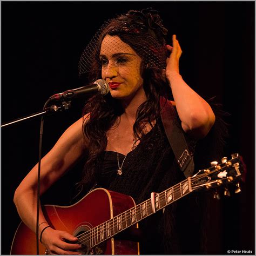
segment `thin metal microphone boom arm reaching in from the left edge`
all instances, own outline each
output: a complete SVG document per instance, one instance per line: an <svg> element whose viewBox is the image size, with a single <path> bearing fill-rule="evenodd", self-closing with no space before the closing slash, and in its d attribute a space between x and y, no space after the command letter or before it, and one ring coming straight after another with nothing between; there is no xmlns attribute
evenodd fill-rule
<svg viewBox="0 0 256 256"><path fill-rule="evenodd" d="M59 103L59 105L51 105L50 107L44 107L43 111L39 111L33 114L30 114L29 116L17 118L15 120L12 120L11 122L6 122L1 125L1 128L8 127L10 125L18 124L19 122L31 119L33 117L38 117L38 116L49 116L50 114L57 113L57 112L62 112L63 110L68 110L71 107L70 102L62 102Z"/></svg>

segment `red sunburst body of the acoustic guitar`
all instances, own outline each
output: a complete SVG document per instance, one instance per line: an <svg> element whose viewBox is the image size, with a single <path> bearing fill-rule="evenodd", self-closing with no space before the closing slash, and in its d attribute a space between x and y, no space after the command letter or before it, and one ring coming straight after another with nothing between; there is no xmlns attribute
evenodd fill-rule
<svg viewBox="0 0 256 256"><path fill-rule="evenodd" d="M71 206L43 206L49 225L78 237L83 254L139 254L138 242L115 239L112 236L124 224L111 223L113 217L135 206L134 200L124 194L96 188L78 203ZM108 221L109 220L109 221ZM130 221L127 225L131 224ZM36 235L23 222L19 224L11 254L37 254ZM45 247L39 242L39 254Z"/></svg>

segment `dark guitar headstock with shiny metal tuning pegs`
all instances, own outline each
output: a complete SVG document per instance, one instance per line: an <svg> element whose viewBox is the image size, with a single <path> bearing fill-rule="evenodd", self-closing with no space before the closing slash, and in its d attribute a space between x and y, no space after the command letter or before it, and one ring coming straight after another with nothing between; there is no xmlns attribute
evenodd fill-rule
<svg viewBox="0 0 256 256"><path fill-rule="evenodd" d="M229 160L223 157L220 164L217 161L212 161L211 165L211 167L200 170L191 177L192 191L210 190L231 183L236 183L235 193L241 191L239 181L242 179L242 173L244 172L244 163L238 153L232 154ZM224 194L229 196L226 187ZM218 195L216 197L218 198Z"/></svg>

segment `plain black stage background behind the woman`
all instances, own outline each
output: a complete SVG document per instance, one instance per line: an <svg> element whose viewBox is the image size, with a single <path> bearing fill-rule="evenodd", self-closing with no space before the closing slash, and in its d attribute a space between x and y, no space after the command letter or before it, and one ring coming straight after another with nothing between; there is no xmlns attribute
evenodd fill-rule
<svg viewBox="0 0 256 256"><path fill-rule="evenodd" d="M51 95L79 87L79 57L106 19L129 9L157 9L169 38L175 33L183 49L184 80L206 99L217 96L231 113L226 118L230 124L226 156L238 152L247 164L240 194L219 201L210 198L208 253L254 253L254 2L1 4L2 123L40 111ZM43 154L81 116L83 103L76 100L68 112L46 118ZM38 160L39 120L2 129L2 254L10 253L20 222L12 202L15 188ZM67 204L72 177L78 177L80 168L58 181L43 203Z"/></svg>

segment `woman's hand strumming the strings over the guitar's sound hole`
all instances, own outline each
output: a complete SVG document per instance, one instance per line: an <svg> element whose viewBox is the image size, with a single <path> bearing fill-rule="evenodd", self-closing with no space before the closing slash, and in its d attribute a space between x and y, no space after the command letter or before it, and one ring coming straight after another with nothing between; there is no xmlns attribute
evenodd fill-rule
<svg viewBox="0 0 256 256"><path fill-rule="evenodd" d="M78 238L65 231L46 228L42 234L42 244L46 247L48 254L76 255L82 254L77 250L82 248L76 244Z"/></svg>

